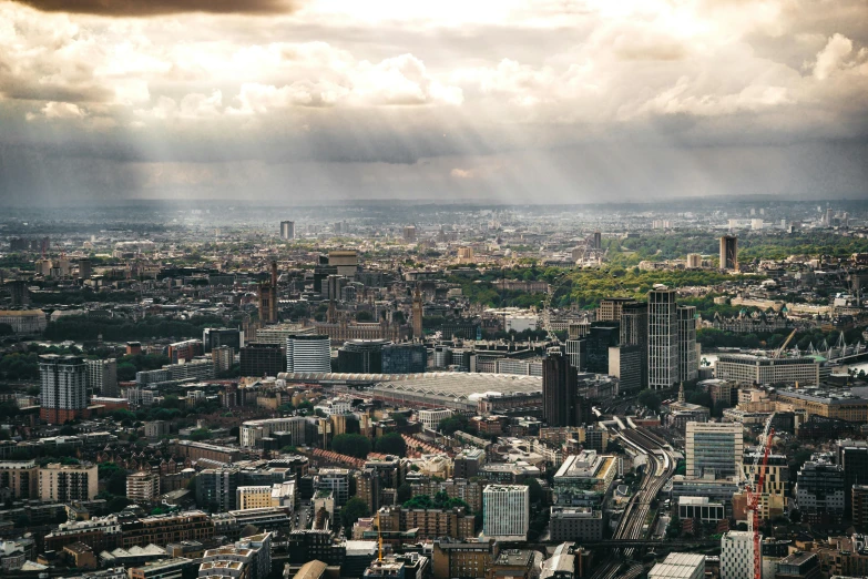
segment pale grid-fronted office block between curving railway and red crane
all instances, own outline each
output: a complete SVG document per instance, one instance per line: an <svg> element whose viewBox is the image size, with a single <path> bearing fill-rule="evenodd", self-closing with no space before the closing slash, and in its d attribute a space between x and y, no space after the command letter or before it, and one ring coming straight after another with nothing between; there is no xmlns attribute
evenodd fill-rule
<svg viewBox="0 0 868 579"><path fill-rule="evenodd" d="M738 423L687 423L684 438L687 477L738 476L744 456L744 427Z"/></svg>

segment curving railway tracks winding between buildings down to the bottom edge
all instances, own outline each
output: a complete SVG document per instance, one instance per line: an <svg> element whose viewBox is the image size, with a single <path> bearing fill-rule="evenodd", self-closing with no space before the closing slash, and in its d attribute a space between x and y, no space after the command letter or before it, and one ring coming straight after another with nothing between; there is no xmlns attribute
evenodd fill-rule
<svg viewBox="0 0 868 579"><path fill-rule="evenodd" d="M626 424L626 420L621 420ZM621 516L614 539L643 539L644 526L651 510L651 501L675 474L675 459L665 448L665 440L643 428L624 428L619 437L625 446L647 457L639 490L633 495ZM642 566L631 561L634 548L613 549L602 561L591 579L633 579L642 573Z"/></svg>

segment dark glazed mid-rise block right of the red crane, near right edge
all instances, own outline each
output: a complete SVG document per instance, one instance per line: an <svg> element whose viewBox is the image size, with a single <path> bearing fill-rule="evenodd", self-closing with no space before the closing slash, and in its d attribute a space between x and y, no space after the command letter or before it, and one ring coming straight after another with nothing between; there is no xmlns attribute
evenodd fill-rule
<svg viewBox="0 0 868 579"><path fill-rule="evenodd" d="M844 469L820 460L809 460L796 478L796 504L806 522L838 522L846 512Z"/></svg>

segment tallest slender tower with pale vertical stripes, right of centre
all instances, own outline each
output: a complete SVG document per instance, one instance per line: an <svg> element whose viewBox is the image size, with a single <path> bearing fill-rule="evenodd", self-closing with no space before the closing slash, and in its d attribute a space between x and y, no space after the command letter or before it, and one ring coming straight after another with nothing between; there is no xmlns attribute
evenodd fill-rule
<svg viewBox="0 0 868 579"><path fill-rule="evenodd" d="M671 388L678 382L678 314L675 290L656 285L649 292L649 387Z"/></svg>

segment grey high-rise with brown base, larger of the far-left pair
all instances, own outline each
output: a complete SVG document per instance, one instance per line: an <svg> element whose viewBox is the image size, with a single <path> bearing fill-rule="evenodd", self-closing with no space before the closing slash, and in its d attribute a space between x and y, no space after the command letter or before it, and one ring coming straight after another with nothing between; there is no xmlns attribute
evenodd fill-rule
<svg viewBox="0 0 868 579"><path fill-rule="evenodd" d="M45 354L39 357L40 412L49 424L84 416L88 409L88 367L78 356Z"/></svg>

